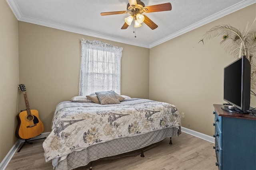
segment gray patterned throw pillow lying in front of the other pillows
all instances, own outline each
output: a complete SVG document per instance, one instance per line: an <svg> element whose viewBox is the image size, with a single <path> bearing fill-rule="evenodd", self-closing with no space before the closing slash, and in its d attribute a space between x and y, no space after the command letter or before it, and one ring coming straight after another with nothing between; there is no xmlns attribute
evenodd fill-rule
<svg viewBox="0 0 256 170"><path fill-rule="evenodd" d="M116 92L113 90L106 92L95 92L95 94L100 100L100 104L120 104L118 94L116 94ZM124 98L122 100L124 100Z"/></svg>

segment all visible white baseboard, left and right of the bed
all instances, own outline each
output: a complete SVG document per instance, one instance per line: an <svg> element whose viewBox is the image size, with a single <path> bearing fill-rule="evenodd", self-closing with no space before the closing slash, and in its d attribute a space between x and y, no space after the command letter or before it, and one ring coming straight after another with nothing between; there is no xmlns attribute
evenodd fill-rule
<svg viewBox="0 0 256 170"><path fill-rule="evenodd" d="M200 139L203 139L205 141L208 141L210 143L214 143L214 137L205 135L203 133L197 132L197 131L193 131L191 129L188 129L186 127L181 127L181 131L184 133L188 133L189 135L198 137ZM34 137L30 140L34 140L34 139L40 139L43 137L48 137L48 135L50 134L50 132L45 132L42 133L41 135ZM8 163L10 162L10 160L12 159L12 156L16 153L16 151L18 150L19 146L21 143L23 143L25 140L18 140L12 147L12 149L8 152L8 154L4 157L4 159L2 160L2 162L0 163L0 170L5 170L6 166L8 165Z"/></svg>

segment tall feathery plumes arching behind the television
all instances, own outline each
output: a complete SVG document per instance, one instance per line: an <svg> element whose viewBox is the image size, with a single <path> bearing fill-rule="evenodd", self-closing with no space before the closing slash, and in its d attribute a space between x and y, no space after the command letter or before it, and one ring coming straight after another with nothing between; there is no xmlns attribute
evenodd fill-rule
<svg viewBox="0 0 256 170"><path fill-rule="evenodd" d="M243 55L250 61L251 64L251 88L256 87L256 65L253 63L256 53L256 27L254 25L256 18L252 25L244 31L240 31L230 25L217 25L207 31L203 38L199 41L204 44L208 39L222 36L220 45L225 49L226 53L233 55L235 58ZM254 25L254 29L251 29Z"/></svg>

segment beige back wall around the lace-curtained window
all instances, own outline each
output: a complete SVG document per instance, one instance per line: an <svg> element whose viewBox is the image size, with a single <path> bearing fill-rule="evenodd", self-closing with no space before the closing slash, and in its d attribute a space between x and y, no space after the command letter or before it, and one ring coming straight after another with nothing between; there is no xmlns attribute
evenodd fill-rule
<svg viewBox="0 0 256 170"><path fill-rule="evenodd" d="M82 38L123 47L121 94L149 97L149 49L22 21L18 30L20 83L26 86L30 108L39 111L45 132L50 131L56 105L78 96ZM22 95L20 99L24 109Z"/></svg>

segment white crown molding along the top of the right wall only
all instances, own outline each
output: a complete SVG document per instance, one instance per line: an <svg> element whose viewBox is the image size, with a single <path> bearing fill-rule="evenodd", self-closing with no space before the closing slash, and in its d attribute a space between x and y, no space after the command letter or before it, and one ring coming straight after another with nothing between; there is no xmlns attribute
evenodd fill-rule
<svg viewBox="0 0 256 170"><path fill-rule="evenodd" d="M224 16L226 16L228 14L236 12L236 11L242 9L242 8L245 8L245 7L250 6L252 4L255 4L255 3L256 3L255 0L244 0L244 1L240 2L240 3L238 3L238 4L235 4L233 6L230 6L229 8L226 8L225 10L222 10L222 11L220 11L220 12L218 12L218 13L212 15L212 16L209 16L208 18L205 18L204 20L198 21L198 22L196 22L196 23L194 23L194 24L192 24L192 25L190 25L190 26L188 26L188 27L186 27L184 29L181 29L181 30L177 31L176 33L173 33L173 34L171 34L171 35L169 35L169 36L167 36L167 37L165 37L163 39L160 39L160 40L150 44L149 48L155 47L156 45L160 45L160 44L162 44L162 43L164 43L164 42L166 42L166 41L168 41L170 39L178 37L179 35L182 35L184 33L192 31L193 29L201 27L201 26L203 26L203 25L205 25L207 23L210 23L210 22L212 22L214 20L222 18L222 17L224 17Z"/></svg>

